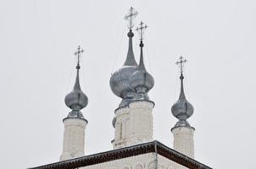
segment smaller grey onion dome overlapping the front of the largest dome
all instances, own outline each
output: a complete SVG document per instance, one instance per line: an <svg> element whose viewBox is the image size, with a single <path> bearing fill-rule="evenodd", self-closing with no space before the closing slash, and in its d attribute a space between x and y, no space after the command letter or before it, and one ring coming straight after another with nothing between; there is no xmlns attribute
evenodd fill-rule
<svg viewBox="0 0 256 169"><path fill-rule="evenodd" d="M151 74L149 74L145 68L144 61L143 61L143 43L141 41L140 47L141 47L141 56L140 56L140 63L139 66L136 68L136 72L131 75L130 78L130 85L131 88L136 90L135 99L144 99L149 100L147 96L147 92L153 88L154 85L154 79Z"/></svg>

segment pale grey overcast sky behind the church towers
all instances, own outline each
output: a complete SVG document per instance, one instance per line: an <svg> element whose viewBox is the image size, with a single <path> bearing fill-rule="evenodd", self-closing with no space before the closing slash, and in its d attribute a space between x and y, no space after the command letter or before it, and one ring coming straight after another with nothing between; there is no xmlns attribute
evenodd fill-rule
<svg viewBox="0 0 256 169"><path fill-rule="evenodd" d="M175 61L188 59L186 95L195 108L195 155L214 168L256 168L253 0L0 1L0 164L25 168L58 161L70 112L64 96L75 81L78 45L85 49L81 86L89 98L86 155L111 150L112 119L120 99L110 74L124 63L124 15L139 12L149 26L147 70L154 139L172 147L170 112L179 90ZM138 60L138 36L134 38ZM115 62L116 60L116 62Z"/></svg>

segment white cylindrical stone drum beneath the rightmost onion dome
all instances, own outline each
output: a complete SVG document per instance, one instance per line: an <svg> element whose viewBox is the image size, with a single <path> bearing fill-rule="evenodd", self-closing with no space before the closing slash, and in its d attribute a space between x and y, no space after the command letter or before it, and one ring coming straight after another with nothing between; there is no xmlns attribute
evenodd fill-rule
<svg viewBox="0 0 256 169"><path fill-rule="evenodd" d="M174 150L181 152L194 159L194 128L179 127L173 128ZM175 165L175 169L185 169L185 166Z"/></svg>

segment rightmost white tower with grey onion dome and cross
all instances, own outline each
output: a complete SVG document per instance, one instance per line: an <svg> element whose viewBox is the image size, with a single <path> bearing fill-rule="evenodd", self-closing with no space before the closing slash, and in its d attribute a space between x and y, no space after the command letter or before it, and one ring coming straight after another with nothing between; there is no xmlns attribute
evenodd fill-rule
<svg viewBox="0 0 256 169"><path fill-rule="evenodd" d="M187 118L191 117L193 114L193 106L191 103L186 101L186 96L184 94L183 88L183 67L184 63L186 63L186 59L180 57L179 61L176 63L181 68L181 93L178 101L171 107L171 112L173 115L179 119L179 121L175 124L174 128L171 128L171 132L174 136L174 149L181 152L184 155L187 155L194 158L194 140L193 134L195 128L190 126L190 124L186 121ZM177 165L176 169L184 168L184 166Z"/></svg>

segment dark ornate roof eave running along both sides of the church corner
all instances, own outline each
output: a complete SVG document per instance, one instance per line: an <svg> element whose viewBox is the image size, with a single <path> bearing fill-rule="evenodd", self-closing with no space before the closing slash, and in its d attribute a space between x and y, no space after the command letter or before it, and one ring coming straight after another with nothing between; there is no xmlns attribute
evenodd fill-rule
<svg viewBox="0 0 256 169"><path fill-rule="evenodd" d="M155 149L156 147L156 149ZM155 140L148 143L136 144L130 147L125 147L117 150L109 150L102 153L97 153L94 155L86 155L79 158L71 159L68 161L59 161L45 166L37 166L31 169L72 169L82 166L91 166L98 163L115 161L135 155L143 155L147 153L158 153L164 157L175 161L192 169L212 169L209 166L205 166L202 163L189 158L186 155L170 149L169 147L161 144L159 141Z"/></svg>

